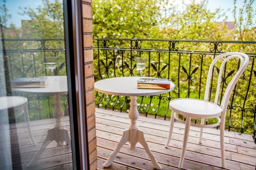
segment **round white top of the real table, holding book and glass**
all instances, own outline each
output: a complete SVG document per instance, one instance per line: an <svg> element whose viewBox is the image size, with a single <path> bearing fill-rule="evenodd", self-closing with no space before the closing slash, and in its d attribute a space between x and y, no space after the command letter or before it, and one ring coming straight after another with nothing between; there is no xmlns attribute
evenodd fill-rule
<svg viewBox="0 0 256 170"><path fill-rule="evenodd" d="M103 79L95 82L94 89L96 91L123 96L147 96L167 93L172 91L175 87L173 82L170 82L171 89L160 90L160 89L138 89L137 80L140 77L117 77L110 79Z"/></svg>

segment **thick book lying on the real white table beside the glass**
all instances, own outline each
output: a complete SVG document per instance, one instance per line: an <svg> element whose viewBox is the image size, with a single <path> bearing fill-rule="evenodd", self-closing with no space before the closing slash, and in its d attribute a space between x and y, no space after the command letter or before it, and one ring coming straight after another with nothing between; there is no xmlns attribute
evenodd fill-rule
<svg viewBox="0 0 256 170"><path fill-rule="evenodd" d="M137 88L170 89L170 81L168 79L159 78L140 78L137 81Z"/></svg>

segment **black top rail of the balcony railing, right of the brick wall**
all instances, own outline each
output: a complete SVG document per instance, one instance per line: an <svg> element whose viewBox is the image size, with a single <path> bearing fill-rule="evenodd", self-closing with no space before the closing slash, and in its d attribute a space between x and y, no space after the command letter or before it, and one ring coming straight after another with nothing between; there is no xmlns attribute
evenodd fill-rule
<svg viewBox="0 0 256 170"><path fill-rule="evenodd" d="M140 39L140 38L94 38L94 40L132 40L132 41L178 41L178 42L222 42L222 43L256 43L256 41L218 41L218 40L181 40L181 39Z"/></svg>

